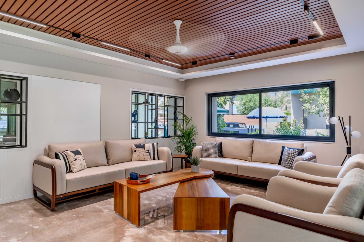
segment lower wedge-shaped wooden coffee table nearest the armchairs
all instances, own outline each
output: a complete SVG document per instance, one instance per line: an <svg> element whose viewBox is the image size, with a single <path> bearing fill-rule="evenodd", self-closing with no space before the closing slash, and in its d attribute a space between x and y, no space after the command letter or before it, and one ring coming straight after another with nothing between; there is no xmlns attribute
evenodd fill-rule
<svg viewBox="0 0 364 242"><path fill-rule="evenodd" d="M179 183L173 198L174 230L226 230L230 198L209 178Z"/></svg>

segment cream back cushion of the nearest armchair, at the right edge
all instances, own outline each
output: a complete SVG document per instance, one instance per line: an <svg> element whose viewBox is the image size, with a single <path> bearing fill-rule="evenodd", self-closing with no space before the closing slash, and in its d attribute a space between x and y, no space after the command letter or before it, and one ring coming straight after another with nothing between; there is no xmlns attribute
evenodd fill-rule
<svg viewBox="0 0 364 242"><path fill-rule="evenodd" d="M346 173L327 204L324 214L359 218L364 205L364 170L355 168Z"/></svg>

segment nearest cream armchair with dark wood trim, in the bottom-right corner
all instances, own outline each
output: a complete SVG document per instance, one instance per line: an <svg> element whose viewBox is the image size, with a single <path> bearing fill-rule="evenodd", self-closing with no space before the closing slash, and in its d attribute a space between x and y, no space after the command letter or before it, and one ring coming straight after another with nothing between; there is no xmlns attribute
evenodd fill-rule
<svg viewBox="0 0 364 242"><path fill-rule="evenodd" d="M363 189L363 172L357 173L359 176L354 174L355 179L361 180L359 188ZM352 180L353 176L347 182ZM234 199L229 213L227 242L362 242L364 221L358 218L360 216L342 216L327 210L332 202L345 200L340 192L347 185L343 184L339 190L275 176L269 181L266 199L247 194ZM356 191L358 193L358 189ZM363 211L363 190L360 193L359 189L359 194L361 204L352 206L359 209L361 206L361 212L356 211L356 215Z"/></svg>

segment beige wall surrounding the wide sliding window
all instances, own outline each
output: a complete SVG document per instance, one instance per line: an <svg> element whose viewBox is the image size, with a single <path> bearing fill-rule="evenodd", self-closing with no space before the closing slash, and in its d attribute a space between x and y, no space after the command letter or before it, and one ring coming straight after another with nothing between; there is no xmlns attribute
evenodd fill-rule
<svg viewBox="0 0 364 242"><path fill-rule="evenodd" d="M336 115L352 118L352 127L360 139L352 139L352 153L364 153L364 72L363 52L245 70L186 81L186 114L193 116L199 129L198 144L214 140L206 137L205 93L258 87L335 80ZM340 126L336 126L336 143L306 142L318 163L340 165L346 144Z"/></svg>

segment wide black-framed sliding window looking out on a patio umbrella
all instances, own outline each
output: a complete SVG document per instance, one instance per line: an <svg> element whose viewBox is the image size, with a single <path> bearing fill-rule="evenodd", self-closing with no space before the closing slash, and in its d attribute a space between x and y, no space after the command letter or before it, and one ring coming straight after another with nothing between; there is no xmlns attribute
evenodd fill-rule
<svg viewBox="0 0 364 242"><path fill-rule="evenodd" d="M208 135L335 141L334 82L208 94Z"/></svg>

